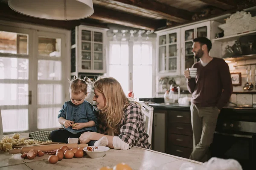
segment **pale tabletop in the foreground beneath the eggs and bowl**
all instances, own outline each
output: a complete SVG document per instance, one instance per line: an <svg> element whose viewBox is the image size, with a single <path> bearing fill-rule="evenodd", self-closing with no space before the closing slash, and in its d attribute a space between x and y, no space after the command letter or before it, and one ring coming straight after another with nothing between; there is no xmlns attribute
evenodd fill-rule
<svg viewBox="0 0 256 170"><path fill-rule="evenodd" d="M133 170L179 170L180 166L187 162L195 167L201 167L202 163L190 159L147 150L140 147L132 147L129 150L110 149L101 159L83 158L62 159L56 164L50 164L48 157L35 157L32 160L22 159L20 153L11 155L0 151L0 170L98 170L103 166L114 167L120 162L125 162Z"/></svg>

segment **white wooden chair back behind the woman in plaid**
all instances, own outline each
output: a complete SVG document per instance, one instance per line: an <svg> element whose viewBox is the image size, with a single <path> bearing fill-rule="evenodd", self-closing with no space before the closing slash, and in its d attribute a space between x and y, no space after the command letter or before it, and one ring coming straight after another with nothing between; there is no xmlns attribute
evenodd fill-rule
<svg viewBox="0 0 256 170"><path fill-rule="evenodd" d="M144 115L143 119L145 123L146 132L148 133L148 142L151 144L154 108L149 106L145 102L139 101L139 103L141 105L141 111Z"/></svg>

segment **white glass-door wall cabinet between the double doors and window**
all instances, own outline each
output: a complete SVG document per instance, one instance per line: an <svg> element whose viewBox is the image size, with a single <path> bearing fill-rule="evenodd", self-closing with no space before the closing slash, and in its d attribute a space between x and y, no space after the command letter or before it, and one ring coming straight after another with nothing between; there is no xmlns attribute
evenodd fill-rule
<svg viewBox="0 0 256 170"><path fill-rule="evenodd" d="M106 73L106 28L76 26L71 32L71 75Z"/></svg>

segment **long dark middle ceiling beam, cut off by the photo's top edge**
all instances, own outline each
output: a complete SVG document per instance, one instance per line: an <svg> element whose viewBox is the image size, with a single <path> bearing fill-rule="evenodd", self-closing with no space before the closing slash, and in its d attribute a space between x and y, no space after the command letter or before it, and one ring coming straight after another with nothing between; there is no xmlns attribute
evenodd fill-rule
<svg viewBox="0 0 256 170"><path fill-rule="evenodd" d="M166 20L171 20L176 23L184 23L192 20L194 13L168 6L156 0L97 0L99 2L108 3L123 8L134 9L136 11L162 17Z"/></svg>

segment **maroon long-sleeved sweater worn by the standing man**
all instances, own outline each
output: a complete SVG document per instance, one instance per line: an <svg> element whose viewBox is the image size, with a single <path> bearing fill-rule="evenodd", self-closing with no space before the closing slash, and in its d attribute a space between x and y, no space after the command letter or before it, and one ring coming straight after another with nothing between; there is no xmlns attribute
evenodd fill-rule
<svg viewBox="0 0 256 170"><path fill-rule="evenodd" d="M196 62L198 68L195 78L187 79L187 88L192 94L191 102L198 107L216 106L221 109L233 92L230 71L227 63L213 58L206 66Z"/></svg>

